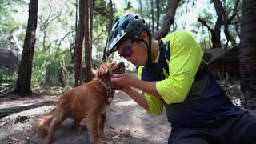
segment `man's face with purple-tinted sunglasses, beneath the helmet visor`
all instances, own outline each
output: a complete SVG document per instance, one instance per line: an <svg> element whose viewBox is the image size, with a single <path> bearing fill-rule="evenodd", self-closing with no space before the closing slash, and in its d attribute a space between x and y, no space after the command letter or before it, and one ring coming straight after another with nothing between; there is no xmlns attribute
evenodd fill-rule
<svg viewBox="0 0 256 144"><path fill-rule="evenodd" d="M146 45L143 42L127 39L118 46L118 54L120 54L122 58L126 58L135 66L145 66L147 62L146 49Z"/></svg>

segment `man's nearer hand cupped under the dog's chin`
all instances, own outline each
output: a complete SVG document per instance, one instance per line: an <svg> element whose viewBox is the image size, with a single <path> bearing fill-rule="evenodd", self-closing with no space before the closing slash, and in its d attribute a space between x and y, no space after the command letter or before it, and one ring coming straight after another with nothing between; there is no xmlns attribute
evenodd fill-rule
<svg viewBox="0 0 256 144"><path fill-rule="evenodd" d="M136 81L138 81L136 78L128 74L113 74L111 77L111 82L123 87L134 86Z"/></svg>

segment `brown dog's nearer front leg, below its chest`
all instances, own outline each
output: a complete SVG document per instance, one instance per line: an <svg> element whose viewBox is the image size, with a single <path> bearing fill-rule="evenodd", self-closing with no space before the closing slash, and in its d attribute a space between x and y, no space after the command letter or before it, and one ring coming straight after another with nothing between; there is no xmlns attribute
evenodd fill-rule
<svg viewBox="0 0 256 144"><path fill-rule="evenodd" d="M94 144L103 144L102 138L99 134L98 120L99 115L97 112L93 112L92 114L90 114L90 137L92 138Z"/></svg>

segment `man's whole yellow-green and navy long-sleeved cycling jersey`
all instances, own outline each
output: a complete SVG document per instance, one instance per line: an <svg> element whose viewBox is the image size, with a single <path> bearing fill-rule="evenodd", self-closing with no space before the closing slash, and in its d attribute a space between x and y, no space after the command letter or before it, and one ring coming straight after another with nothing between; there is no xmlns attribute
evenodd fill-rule
<svg viewBox="0 0 256 144"><path fill-rule="evenodd" d="M172 128L206 126L207 122L241 114L245 110L230 101L205 62L198 42L185 30L159 41L154 63L138 69L142 81L156 81L162 100L145 93L149 114L162 114L163 106Z"/></svg>

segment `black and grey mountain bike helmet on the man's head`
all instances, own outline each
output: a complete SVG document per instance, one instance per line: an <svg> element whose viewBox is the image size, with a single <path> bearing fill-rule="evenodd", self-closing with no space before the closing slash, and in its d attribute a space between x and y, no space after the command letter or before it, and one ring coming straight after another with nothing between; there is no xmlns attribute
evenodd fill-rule
<svg viewBox="0 0 256 144"><path fill-rule="evenodd" d="M142 31L146 30L149 37L149 43L141 38ZM126 39L144 42L148 51L148 62L150 62L151 55L151 29L150 25L137 14L127 14L118 18L114 22L114 26L110 30L106 45L106 57L117 50L117 47Z"/></svg>

